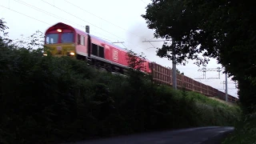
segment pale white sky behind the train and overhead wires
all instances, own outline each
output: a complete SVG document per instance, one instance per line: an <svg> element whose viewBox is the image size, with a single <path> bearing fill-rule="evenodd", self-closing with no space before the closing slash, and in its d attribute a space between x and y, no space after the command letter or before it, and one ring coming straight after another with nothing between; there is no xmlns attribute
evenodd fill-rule
<svg viewBox="0 0 256 144"><path fill-rule="evenodd" d="M103 38L118 46L144 53L151 62L162 66L172 67L167 58L159 58L156 48L162 47L163 42L143 42L159 40L154 38L154 30L148 29L146 20L141 17L146 14L146 6L150 0L1 0L0 18L4 18L9 27L9 38L17 39L29 37L36 30L45 33L50 26L64 22L80 30L90 26L90 34ZM202 66L195 61L188 61L186 66L177 65L177 69L186 76L198 82L212 86L225 92L223 82L225 74L217 71L207 71L206 79L202 78ZM222 67L215 59L210 59L207 69ZM216 79L217 78L217 79ZM228 94L238 97L237 89L231 78L228 78Z"/></svg>

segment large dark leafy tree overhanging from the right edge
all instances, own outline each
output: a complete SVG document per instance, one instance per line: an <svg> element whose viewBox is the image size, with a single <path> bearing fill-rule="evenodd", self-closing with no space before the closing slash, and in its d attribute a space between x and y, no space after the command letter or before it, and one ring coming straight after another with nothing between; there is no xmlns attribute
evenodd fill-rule
<svg viewBox="0 0 256 144"><path fill-rule="evenodd" d="M172 40L172 45L166 42L158 48L159 57L171 59L174 46L178 63L195 59L202 65L209 62L209 58L216 58L229 76L234 75L234 80L238 80L238 88L239 82L246 80L254 90L255 14L254 5L249 1L152 0L142 18L155 30L155 38ZM248 102L246 96L239 95L239 98L243 104ZM256 100L245 106L251 104L256 105Z"/></svg>

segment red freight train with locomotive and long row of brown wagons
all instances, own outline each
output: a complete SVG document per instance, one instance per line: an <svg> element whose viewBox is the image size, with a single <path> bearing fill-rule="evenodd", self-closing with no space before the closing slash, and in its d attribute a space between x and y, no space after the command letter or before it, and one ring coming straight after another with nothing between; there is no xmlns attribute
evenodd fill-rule
<svg viewBox="0 0 256 144"><path fill-rule="evenodd" d="M128 50L114 45L102 38L90 34L89 31L78 30L74 26L58 22L50 26L45 32L46 47L48 53L54 57L72 57L90 62L90 65L100 66L111 72L125 74L130 68L126 56ZM142 63L142 72L151 74L154 83L172 86L172 70L161 66L156 62L146 59ZM218 98L223 101L226 94L202 82L195 81L184 74L177 74L177 88L195 91L207 97ZM228 94L228 102L238 102L238 98Z"/></svg>

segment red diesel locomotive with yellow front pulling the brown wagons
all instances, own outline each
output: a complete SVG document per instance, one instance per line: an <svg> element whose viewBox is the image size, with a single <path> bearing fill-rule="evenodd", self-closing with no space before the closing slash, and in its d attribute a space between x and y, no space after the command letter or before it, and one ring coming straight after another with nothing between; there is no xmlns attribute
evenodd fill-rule
<svg viewBox="0 0 256 144"><path fill-rule="evenodd" d="M78 30L64 23L57 23L46 30L45 46L54 56L70 56L90 60L96 66L110 71L124 73L128 68L128 50L106 42L92 34ZM150 62L144 62L143 72L150 73Z"/></svg>

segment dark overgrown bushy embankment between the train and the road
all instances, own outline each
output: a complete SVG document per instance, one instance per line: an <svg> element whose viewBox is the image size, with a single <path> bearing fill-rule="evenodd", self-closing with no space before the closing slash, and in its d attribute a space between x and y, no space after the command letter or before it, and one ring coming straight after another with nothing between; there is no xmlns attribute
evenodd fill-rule
<svg viewBox="0 0 256 144"><path fill-rule="evenodd" d="M2 38L1 38L2 39ZM0 142L57 143L149 130L234 125L239 109L43 50L0 47ZM138 80L139 79L139 80Z"/></svg>

